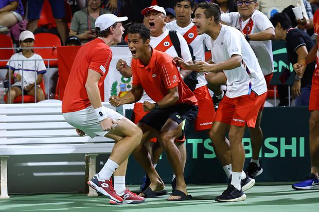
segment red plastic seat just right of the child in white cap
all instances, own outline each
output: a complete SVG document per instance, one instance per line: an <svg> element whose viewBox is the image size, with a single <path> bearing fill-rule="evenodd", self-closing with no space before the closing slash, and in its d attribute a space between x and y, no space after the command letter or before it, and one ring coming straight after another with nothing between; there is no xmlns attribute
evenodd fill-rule
<svg viewBox="0 0 319 212"><path fill-rule="evenodd" d="M33 47L52 47L49 49L33 49L34 52L40 54L43 59L58 59L58 51L57 48L61 46L60 38L51 33L38 33L35 34L34 37L36 41L34 41ZM45 66L48 66L48 61L44 61ZM58 67L58 61L50 61L50 67Z"/></svg>

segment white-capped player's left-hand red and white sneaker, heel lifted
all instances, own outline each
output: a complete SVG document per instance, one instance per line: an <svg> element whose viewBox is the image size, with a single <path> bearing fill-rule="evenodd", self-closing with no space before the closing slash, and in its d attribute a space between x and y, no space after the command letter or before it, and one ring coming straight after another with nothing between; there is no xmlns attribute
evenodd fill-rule
<svg viewBox="0 0 319 212"><path fill-rule="evenodd" d="M113 188L112 178L110 180L101 180L99 179L99 175L96 174L90 181L87 182L87 184L96 191L99 191L101 194L109 197L112 201L116 203L123 202L123 198L116 194Z"/></svg>

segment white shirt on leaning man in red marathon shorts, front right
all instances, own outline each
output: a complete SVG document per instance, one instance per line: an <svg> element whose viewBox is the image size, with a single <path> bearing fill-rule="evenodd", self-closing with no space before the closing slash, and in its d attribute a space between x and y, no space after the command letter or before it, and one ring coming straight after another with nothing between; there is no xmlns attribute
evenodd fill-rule
<svg viewBox="0 0 319 212"><path fill-rule="evenodd" d="M222 25L218 37L212 40L212 62L226 61L234 54L242 57L242 64L237 68L224 70L227 78L226 96L235 98L252 91L258 95L267 92L257 57L244 35L233 27Z"/></svg>

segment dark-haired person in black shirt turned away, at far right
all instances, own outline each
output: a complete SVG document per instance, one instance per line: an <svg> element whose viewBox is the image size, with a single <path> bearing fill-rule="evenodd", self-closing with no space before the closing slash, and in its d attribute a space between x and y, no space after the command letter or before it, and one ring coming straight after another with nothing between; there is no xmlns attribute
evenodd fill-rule
<svg viewBox="0 0 319 212"><path fill-rule="evenodd" d="M289 62L295 64L302 61L314 46L311 37L301 29L293 29L286 13L277 13L270 18L275 27L276 40L286 41ZM296 106L309 106L311 79L315 62L307 65L304 72L296 73L292 86L292 95L296 98Z"/></svg>

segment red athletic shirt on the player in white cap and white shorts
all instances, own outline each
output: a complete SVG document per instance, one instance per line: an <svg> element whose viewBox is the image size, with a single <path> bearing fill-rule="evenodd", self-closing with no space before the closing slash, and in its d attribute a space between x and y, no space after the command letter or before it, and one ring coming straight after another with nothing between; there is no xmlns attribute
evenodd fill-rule
<svg viewBox="0 0 319 212"><path fill-rule="evenodd" d="M80 48L64 90L63 113L79 111L91 105L85 89L88 69L101 74L98 83L100 87L108 74L111 60L112 50L100 38L96 38Z"/></svg>

